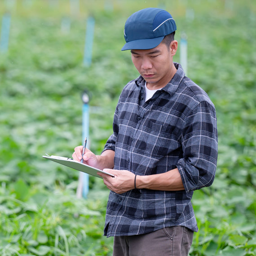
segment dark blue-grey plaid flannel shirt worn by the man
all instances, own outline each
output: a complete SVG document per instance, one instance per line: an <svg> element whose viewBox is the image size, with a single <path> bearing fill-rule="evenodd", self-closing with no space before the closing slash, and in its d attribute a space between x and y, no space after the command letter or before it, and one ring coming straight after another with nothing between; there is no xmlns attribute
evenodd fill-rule
<svg viewBox="0 0 256 256"><path fill-rule="evenodd" d="M191 198L212 184L217 162L215 107L180 64L172 80L145 102L139 76L123 89L113 134L104 150L115 151L117 170L152 175L178 168L185 190L110 191L104 235L145 234L182 225L198 231Z"/></svg>

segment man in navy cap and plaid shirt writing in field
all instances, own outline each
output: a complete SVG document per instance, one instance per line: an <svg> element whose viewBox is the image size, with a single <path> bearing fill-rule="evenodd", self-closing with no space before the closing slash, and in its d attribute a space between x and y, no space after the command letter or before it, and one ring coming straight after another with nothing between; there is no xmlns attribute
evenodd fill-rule
<svg viewBox="0 0 256 256"><path fill-rule="evenodd" d="M193 191L214 180L215 108L173 62L176 29L163 9L128 18L122 50L131 50L140 76L119 97L102 154L84 154L85 163L115 175L100 174L110 189L104 235L114 236L115 256L188 255L198 231Z"/></svg>

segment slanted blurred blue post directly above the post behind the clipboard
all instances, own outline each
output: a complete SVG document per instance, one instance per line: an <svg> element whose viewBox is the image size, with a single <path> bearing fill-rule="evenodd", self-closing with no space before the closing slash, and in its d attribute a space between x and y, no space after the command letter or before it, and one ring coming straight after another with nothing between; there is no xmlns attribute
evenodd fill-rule
<svg viewBox="0 0 256 256"><path fill-rule="evenodd" d="M94 18L89 17L87 19L87 28L85 35L84 66L90 66L92 63L94 24Z"/></svg>

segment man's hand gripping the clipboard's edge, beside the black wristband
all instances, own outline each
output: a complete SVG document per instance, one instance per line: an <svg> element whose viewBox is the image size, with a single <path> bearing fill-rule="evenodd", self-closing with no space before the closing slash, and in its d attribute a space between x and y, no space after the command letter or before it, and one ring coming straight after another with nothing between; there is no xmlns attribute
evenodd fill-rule
<svg viewBox="0 0 256 256"><path fill-rule="evenodd" d="M115 177L112 177L101 172L97 173L103 178L104 184L108 189L114 191L117 194L123 194L129 190L134 189L134 173L127 170L119 171L113 169L104 169L103 171L115 175Z"/></svg>

